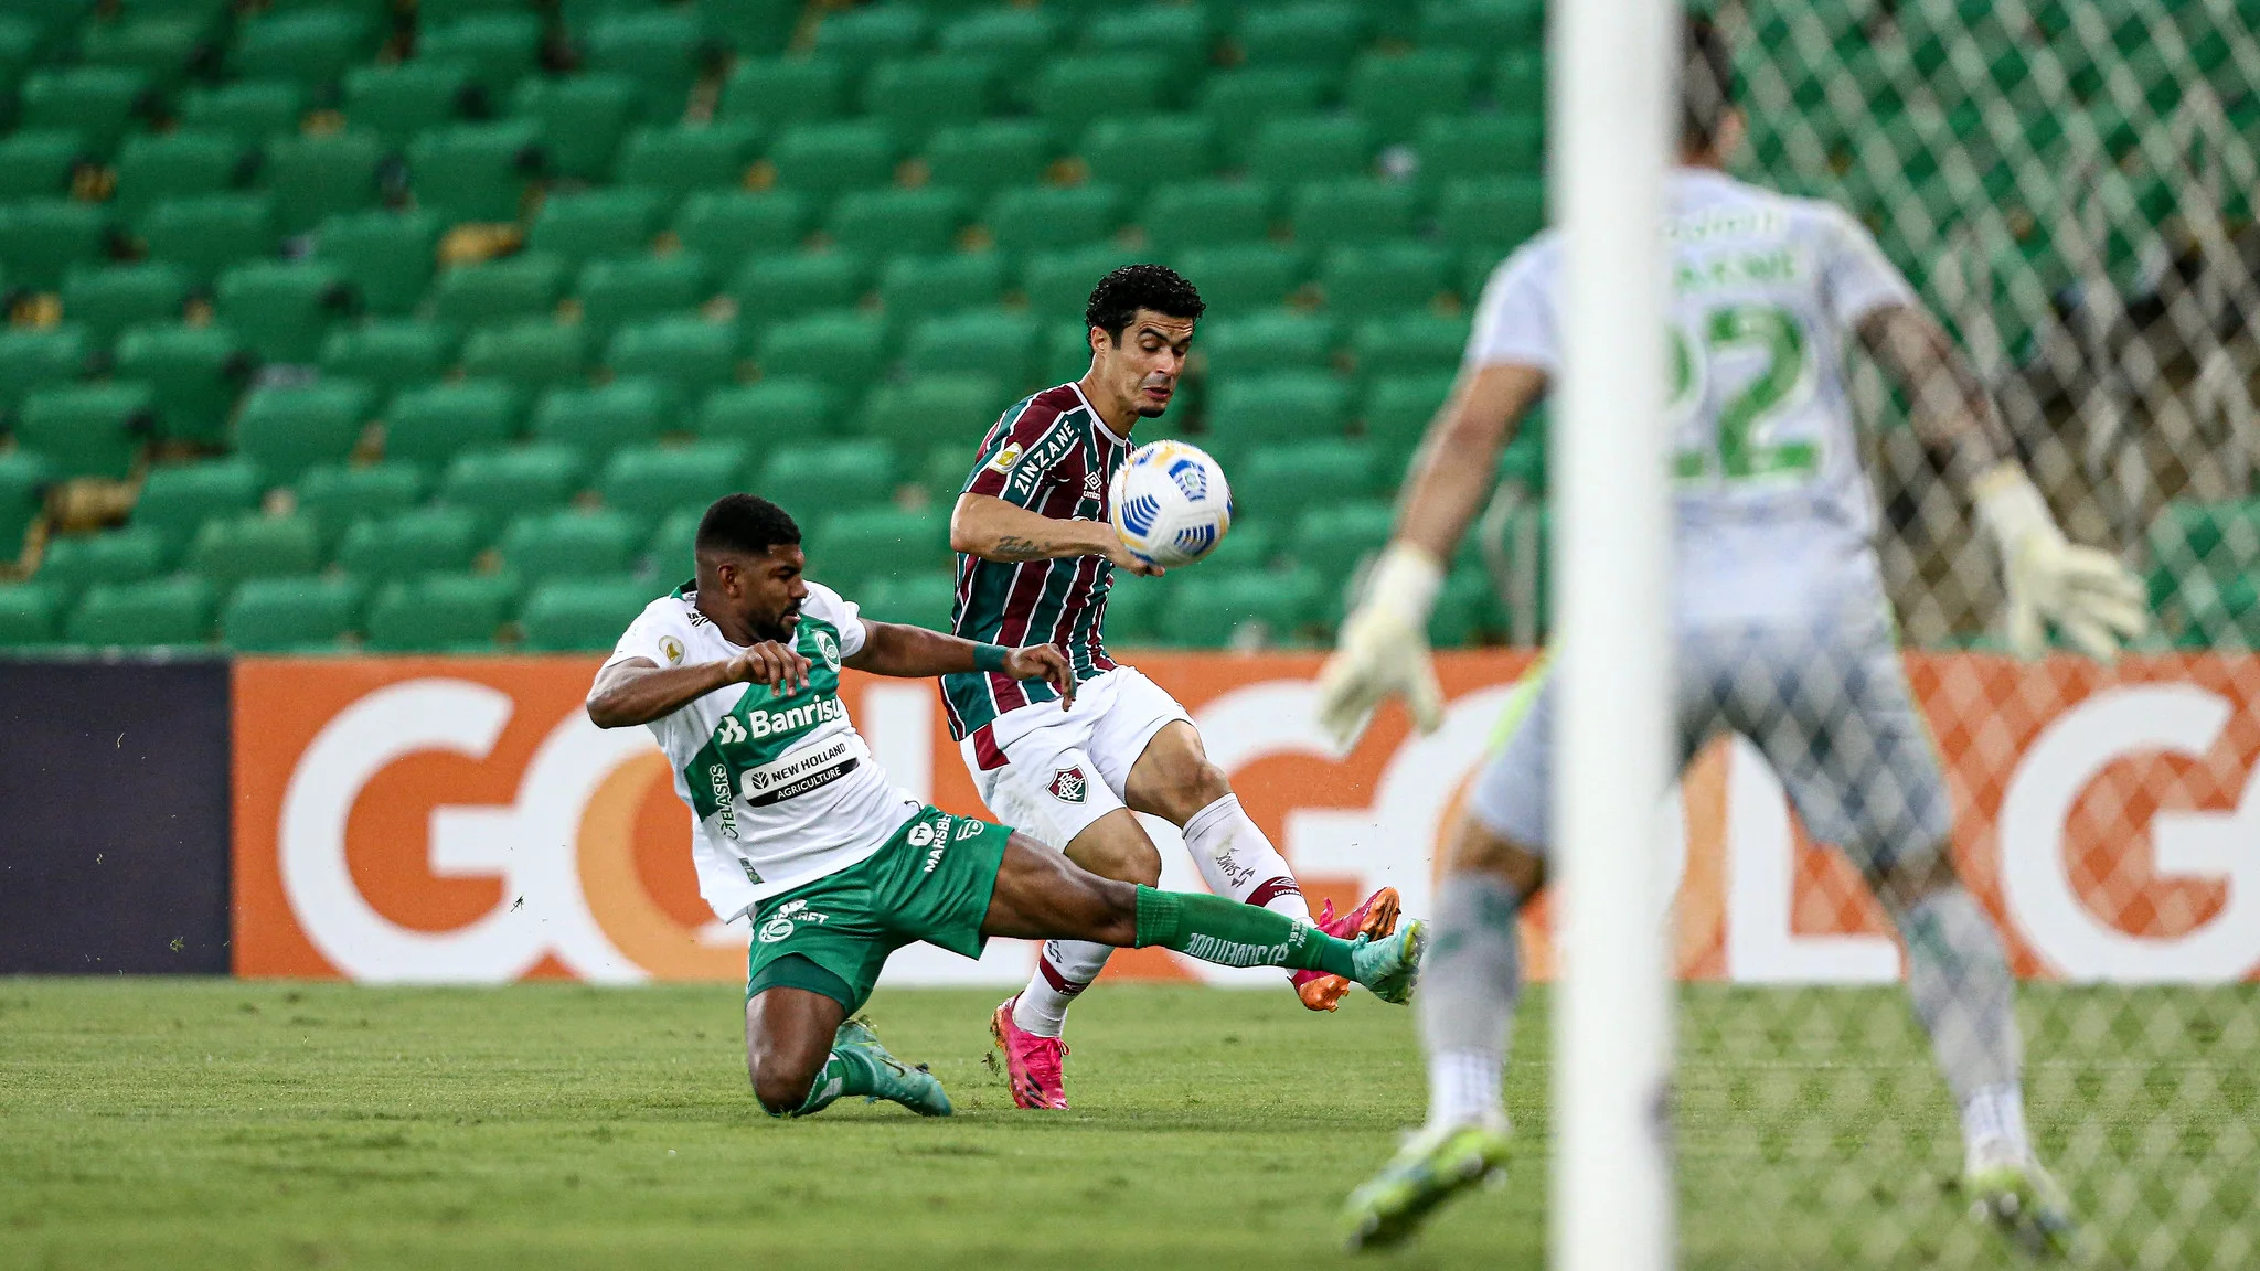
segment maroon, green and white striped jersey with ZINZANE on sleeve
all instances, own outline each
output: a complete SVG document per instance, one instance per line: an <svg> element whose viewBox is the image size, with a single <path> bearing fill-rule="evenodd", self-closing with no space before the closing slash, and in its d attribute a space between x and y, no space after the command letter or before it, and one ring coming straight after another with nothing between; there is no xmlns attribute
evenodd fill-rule
<svg viewBox="0 0 2260 1271"><path fill-rule="evenodd" d="M1001 498L1053 520L1107 520L1107 488L1130 457L1076 384L1044 389L1015 403L981 439L965 491ZM1058 645L1076 681L1112 672L1101 638L1114 563L1105 556L1067 561L983 561L958 554L958 597L949 629L983 645ZM1006 710L1055 701L1044 681L1015 681L990 672L942 676L949 735L963 740Z"/></svg>

